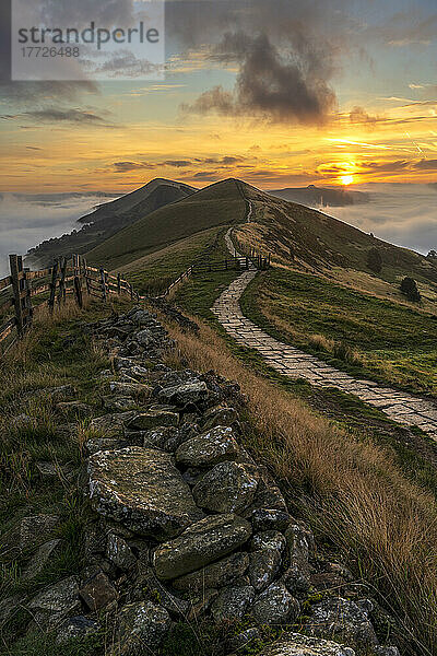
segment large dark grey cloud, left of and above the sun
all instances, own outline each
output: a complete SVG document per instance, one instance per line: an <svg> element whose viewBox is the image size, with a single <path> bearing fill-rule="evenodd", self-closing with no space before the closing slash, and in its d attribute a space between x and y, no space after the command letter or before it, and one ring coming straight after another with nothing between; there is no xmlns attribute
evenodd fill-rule
<svg viewBox="0 0 437 656"><path fill-rule="evenodd" d="M229 92L216 86L192 105L182 105L182 110L320 124L335 106L335 94L327 81L330 67L322 50L312 48L300 32L286 54L280 54L265 35L251 38L245 33L227 34L212 57L239 65L235 89Z"/></svg>

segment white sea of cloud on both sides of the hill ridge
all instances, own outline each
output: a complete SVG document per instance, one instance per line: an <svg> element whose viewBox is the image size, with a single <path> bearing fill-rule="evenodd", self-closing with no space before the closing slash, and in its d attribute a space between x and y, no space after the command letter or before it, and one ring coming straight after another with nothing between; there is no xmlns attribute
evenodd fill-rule
<svg viewBox="0 0 437 656"><path fill-rule="evenodd" d="M437 249L437 185L371 184L354 187L370 194L367 204L322 211L367 233L426 254ZM8 255L24 255L44 239L80 230L78 219L116 195L0 195L0 278Z"/></svg>

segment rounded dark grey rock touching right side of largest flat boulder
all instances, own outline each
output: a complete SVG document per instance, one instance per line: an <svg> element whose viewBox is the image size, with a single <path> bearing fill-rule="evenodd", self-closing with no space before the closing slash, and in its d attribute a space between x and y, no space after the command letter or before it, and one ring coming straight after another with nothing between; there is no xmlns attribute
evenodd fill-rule
<svg viewBox="0 0 437 656"><path fill-rule="evenodd" d="M220 462L192 489L196 503L215 513L238 513L253 500L259 481L256 467Z"/></svg>

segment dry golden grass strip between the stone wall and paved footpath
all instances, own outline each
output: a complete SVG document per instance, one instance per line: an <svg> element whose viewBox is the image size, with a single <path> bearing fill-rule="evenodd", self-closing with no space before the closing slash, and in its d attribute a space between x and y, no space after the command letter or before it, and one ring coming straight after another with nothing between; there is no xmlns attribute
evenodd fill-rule
<svg viewBox="0 0 437 656"><path fill-rule="evenodd" d="M437 654L435 499L406 480L377 445L355 441L252 373L211 328L202 326L199 337L168 329L180 361L239 383L256 429L248 446L279 481L310 490L317 500L312 525L395 611L411 653Z"/></svg>

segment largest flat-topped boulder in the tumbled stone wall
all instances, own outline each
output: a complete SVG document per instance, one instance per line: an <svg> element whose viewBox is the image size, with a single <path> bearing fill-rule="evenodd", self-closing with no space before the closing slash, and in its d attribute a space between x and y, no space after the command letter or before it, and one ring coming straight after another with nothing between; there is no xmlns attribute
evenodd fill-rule
<svg viewBox="0 0 437 656"><path fill-rule="evenodd" d="M165 540L202 517L172 457L158 449L99 452L88 477L94 509L142 536Z"/></svg>

